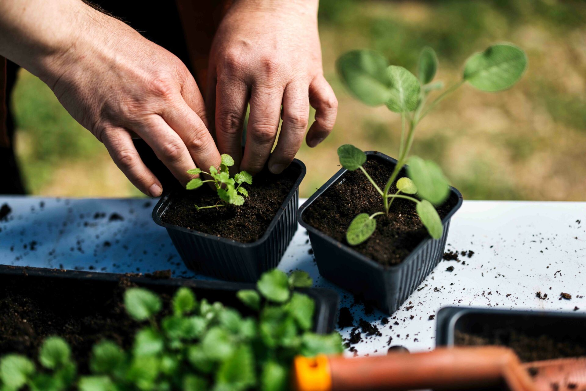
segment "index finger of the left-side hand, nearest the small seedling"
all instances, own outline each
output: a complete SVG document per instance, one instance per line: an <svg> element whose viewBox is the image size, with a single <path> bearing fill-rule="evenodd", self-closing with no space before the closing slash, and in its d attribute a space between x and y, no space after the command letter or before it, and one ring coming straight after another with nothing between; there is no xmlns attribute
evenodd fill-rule
<svg viewBox="0 0 586 391"><path fill-rule="evenodd" d="M220 153L214 144L210 132L197 114L183 101L169 105L163 111L163 119L179 135L183 141L190 161L195 162L197 167L204 171L210 166L220 165ZM193 168L193 163L192 167Z"/></svg>

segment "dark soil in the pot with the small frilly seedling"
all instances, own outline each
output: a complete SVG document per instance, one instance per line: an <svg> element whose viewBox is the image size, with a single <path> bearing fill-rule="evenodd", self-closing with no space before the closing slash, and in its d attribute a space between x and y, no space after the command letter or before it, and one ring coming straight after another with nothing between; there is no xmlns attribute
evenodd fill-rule
<svg viewBox="0 0 586 391"><path fill-rule="evenodd" d="M267 231L299 173L296 166L289 166L280 175L263 169L254 176L252 185L244 183L249 197L245 197L244 205L241 206L197 210L195 205L214 205L218 201L217 193L209 186L174 192L169 197L169 208L161 220L242 243L255 242Z"/></svg>

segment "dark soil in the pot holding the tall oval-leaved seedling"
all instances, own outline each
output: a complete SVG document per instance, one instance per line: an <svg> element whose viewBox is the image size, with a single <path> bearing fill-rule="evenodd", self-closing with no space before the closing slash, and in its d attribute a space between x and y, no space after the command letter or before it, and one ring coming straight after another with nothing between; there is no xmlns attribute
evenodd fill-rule
<svg viewBox="0 0 586 391"><path fill-rule="evenodd" d="M386 162L370 158L364 169L382 189L386 185L393 168ZM402 173L404 174L404 173ZM400 178L404 175L399 175ZM391 186L391 193L397 188ZM449 198L437 208L444 218L454 207L457 200ZM336 185L330 186L318 199L305 210L304 220L309 225L338 240L346 242L346 229L359 213L383 210L383 200L372 183L362 171L347 171ZM406 199L395 199L388 216L377 216L376 231L373 235L353 249L380 264L389 266L401 263L408 254L421 243L427 230L415 212L415 203Z"/></svg>

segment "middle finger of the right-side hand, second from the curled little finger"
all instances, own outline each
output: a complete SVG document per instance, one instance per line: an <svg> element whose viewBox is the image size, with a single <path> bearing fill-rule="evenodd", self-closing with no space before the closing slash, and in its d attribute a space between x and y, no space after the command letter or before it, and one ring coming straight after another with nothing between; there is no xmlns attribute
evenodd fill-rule
<svg viewBox="0 0 586 391"><path fill-rule="evenodd" d="M263 169L277 138L283 90L260 86L251 91L250 114L242 169L256 174Z"/></svg>

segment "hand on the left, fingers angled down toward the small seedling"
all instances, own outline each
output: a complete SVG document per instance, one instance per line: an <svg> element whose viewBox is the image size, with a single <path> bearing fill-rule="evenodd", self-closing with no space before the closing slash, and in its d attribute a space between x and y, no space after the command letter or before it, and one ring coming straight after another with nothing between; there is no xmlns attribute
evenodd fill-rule
<svg viewBox="0 0 586 391"><path fill-rule="evenodd" d="M47 56L39 75L63 107L149 196L160 196L162 185L139 157L132 134L183 185L188 169L218 166L203 98L185 64L125 23L83 7L87 18L72 28L73 44Z"/></svg>

